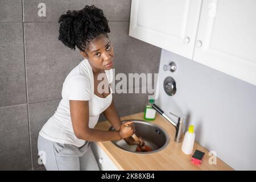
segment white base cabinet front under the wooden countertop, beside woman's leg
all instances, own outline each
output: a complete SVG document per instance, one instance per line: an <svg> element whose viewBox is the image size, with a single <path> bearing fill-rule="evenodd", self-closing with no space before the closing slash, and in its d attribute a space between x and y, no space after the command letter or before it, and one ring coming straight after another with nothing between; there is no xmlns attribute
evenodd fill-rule
<svg viewBox="0 0 256 182"><path fill-rule="evenodd" d="M92 151L101 171L119 171L118 167L112 162L108 155L98 146L92 142Z"/></svg>

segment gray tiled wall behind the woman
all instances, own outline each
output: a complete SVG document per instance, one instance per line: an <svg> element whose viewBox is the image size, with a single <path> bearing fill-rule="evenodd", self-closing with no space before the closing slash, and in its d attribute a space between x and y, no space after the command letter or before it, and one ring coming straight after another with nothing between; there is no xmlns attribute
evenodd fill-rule
<svg viewBox="0 0 256 182"><path fill-rule="evenodd" d="M43 169L36 147L39 130L57 109L65 77L82 60L79 51L57 40L57 20L67 10L103 9L115 74L158 72L160 49L128 36L130 0L45 0L46 17L38 16L40 2L0 1L0 170ZM146 100L146 94L114 94L120 116L143 111Z"/></svg>

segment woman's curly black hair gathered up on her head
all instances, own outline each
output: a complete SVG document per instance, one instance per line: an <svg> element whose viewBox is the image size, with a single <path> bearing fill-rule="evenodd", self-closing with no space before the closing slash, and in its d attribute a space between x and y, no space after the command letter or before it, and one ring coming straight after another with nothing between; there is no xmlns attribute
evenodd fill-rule
<svg viewBox="0 0 256 182"><path fill-rule="evenodd" d="M82 10L68 10L59 18L59 40L75 51L76 47L84 52L88 43L98 35L108 37L108 20L101 9L86 5Z"/></svg>

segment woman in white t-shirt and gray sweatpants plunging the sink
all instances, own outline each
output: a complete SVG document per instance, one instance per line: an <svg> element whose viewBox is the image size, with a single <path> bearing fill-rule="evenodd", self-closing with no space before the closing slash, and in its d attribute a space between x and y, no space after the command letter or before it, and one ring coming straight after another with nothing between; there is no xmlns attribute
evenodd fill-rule
<svg viewBox="0 0 256 182"><path fill-rule="evenodd" d="M121 125L112 100L114 49L108 20L101 9L85 6L67 11L59 23L59 40L71 49L79 48L84 60L65 78L59 106L40 130L38 151L47 170L98 170L90 142L125 139L138 144L130 137L133 123ZM100 74L108 85L103 93L97 89ZM101 113L115 131L93 129Z"/></svg>

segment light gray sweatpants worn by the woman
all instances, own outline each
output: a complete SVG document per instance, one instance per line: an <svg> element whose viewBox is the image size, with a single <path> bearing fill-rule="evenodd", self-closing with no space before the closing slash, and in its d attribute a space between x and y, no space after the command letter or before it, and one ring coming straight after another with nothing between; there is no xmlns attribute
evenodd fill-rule
<svg viewBox="0 0 256 182"><path fill-rule="evenodd" d="M52 142L39 135L39 163L47 171L98 171L98 164L90 148L90 142L81 147L72 144Z"/></svg>

